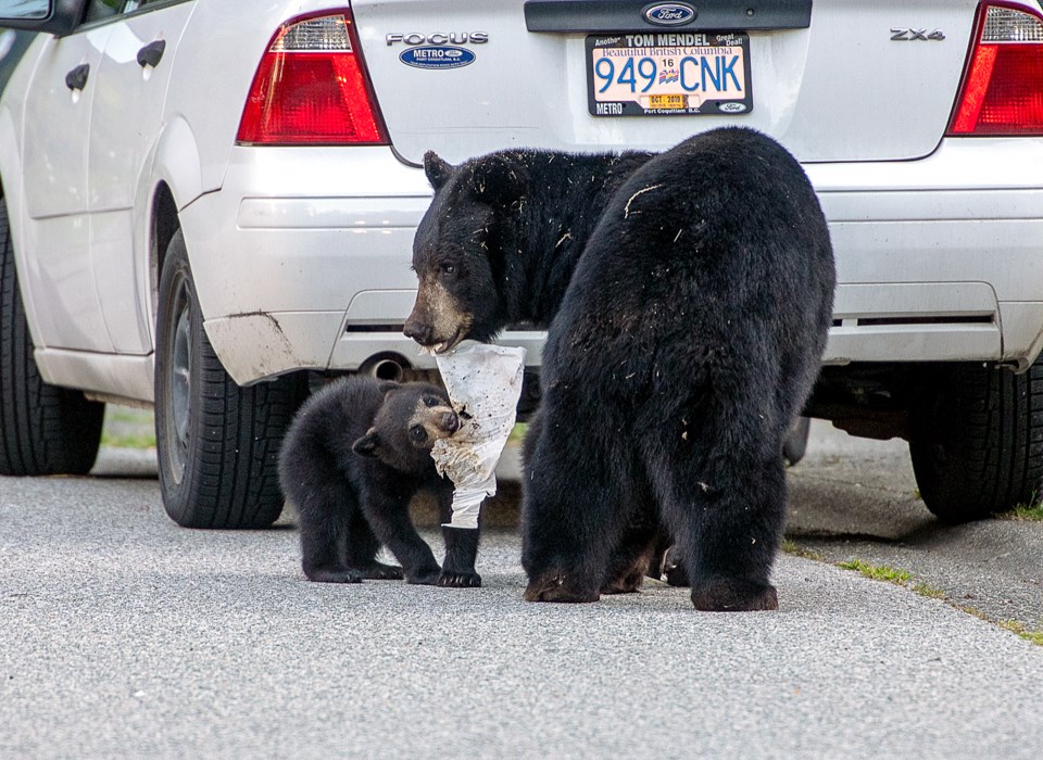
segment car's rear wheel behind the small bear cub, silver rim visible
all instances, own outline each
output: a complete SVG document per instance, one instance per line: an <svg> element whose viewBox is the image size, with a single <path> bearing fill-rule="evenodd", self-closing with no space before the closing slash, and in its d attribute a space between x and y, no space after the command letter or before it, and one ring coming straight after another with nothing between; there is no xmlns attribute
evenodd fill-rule
<svg viewBox="0 0 1043 760"><path fill-rule="evenodd" d="M203 330L180 230L160 274L155 353L155 443L167 515L187 528L271 525L282 511L279 446L306 378L240 388L228 377Z"/></svg>

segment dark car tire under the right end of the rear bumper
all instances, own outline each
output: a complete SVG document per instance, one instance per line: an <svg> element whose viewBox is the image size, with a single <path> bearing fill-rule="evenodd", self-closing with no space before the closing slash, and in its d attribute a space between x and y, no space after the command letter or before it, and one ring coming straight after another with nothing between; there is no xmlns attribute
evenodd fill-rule
<svg viewBox="0 0 1043 760"><path fill-rule="evenodd" d="M971 364L927 370L927 398L910 415L909 453L920 496L940 519L979 520L1039 496L1041 362L1023 375Z"/></svg>

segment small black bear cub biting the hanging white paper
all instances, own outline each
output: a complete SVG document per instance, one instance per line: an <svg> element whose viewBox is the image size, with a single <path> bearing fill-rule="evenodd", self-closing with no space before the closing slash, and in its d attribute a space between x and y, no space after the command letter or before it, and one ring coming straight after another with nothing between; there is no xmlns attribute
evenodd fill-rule
<svg viewBox="0 0 1043 760"><path fill-rule="evenodd" d="M279 457L279 484L300 514L301 565L311 581L401 579L480 586L478 531L442 528L439 568L409 505L419 491L452 514L453 484L435 471L435 441L460 428L445 392L428 383L353 377L316 391L298 411ZM378 562L387 546L402 567Z"/></svg>

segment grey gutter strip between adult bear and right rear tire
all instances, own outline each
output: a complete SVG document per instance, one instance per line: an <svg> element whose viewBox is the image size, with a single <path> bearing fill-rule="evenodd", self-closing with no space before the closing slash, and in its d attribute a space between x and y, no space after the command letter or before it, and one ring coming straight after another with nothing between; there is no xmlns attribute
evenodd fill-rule
<svg viewBox="0 0 1043 760"><path fill-rule="evenodd" d="M815 420L790 470L787 534L839 562L906 570L953 604L1043 631L1043 522L939 522L923 506L904 441L867 441Z"/></svg>

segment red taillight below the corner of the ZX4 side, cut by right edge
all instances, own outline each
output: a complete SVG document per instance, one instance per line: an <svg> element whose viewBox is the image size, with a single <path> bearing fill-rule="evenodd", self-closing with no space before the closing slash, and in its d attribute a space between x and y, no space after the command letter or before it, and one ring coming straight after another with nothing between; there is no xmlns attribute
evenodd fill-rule
<svg viewBox="0 0 1043 760"><path fill-rule="evenodd" d="M1043 135L1043 17L982 3L947 135Z"/></svg>

